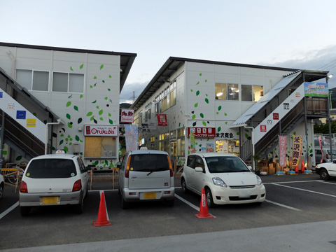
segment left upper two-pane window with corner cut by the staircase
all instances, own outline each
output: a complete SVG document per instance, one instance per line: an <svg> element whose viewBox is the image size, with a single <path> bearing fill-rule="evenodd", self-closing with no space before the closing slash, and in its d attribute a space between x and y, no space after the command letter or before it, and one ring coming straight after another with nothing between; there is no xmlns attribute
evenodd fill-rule
<svg viewBox="0 0 336 252"><path fill-rule="evenodd" d="M49 72L16 69L16 81L27 90L48 91Z"/></svg>

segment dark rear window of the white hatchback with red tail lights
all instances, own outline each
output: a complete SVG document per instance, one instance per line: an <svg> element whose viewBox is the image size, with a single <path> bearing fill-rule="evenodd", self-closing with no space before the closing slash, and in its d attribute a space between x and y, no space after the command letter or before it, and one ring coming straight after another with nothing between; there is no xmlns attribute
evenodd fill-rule
<svg viewBox="0 0 336 252"><path fill-rule="evenodd" d="M59 158L32 160L26 172L26 176L33 179L60 179L76 175L73 160Z"/></svg>

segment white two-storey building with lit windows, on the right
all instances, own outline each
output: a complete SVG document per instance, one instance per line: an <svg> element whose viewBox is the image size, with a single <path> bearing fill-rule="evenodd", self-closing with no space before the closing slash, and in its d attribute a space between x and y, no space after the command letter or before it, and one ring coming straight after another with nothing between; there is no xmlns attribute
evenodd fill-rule
<svg viewBox="0 0 336 252"><path fill-rule="evenodd" d="M325 83L327 74L169 57L131 107L139 145L177 160L195 148L251 162L256 155L276 158L279 135L288 136L290 157L294 134L305 137L302 155L313 157L313 119L328 116L328 97L306 97L304 83ZM158 124L158 114L167 118L167 126Z"/></svg>

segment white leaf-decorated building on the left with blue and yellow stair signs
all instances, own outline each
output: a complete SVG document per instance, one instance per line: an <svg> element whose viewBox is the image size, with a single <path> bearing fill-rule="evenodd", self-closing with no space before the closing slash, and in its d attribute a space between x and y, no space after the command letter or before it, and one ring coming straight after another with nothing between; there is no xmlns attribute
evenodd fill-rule
<svg viewBox="0 0 336 252"><path fill-rule="evenodd" d="M115 166L120 91L135 57L0 43L0 158L20 163L64 150L85 165Z"/></svg>

